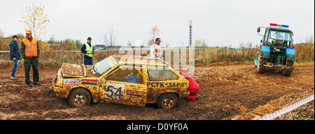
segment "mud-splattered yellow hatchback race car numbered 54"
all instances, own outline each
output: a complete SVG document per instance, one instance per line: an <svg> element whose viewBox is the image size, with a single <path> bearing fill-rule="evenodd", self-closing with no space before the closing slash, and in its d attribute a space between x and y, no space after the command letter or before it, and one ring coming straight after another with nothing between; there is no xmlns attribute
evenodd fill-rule
<svg viewBox="0 0 315 134"><path fill-rule="evenodd" d="M113 55L94 65L63 64L52 80L60 98L71 107L90 103L174 108L189 96L189 81L162 59Z"/></svg>

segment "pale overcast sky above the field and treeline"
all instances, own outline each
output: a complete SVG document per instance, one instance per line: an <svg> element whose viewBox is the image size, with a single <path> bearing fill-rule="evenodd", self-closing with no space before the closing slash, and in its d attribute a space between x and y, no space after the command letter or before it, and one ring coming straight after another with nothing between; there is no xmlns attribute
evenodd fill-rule
<svg viewBox="0 0 315 134"><path fill-rule="evenodd" d="M260 42L256 30L269 23L288 24L295 43L314 37L314 0L0 0L0 29L4 36L25 34L20 22L25 6L41 3L48 14L49 40L71 38L104 44L103 35L112 26L116 40L127 45L148 42L153 25L161 29L165 45L188 45L189 20L193 20L193 43L205 39L209 46L239 47Z"/></svg>

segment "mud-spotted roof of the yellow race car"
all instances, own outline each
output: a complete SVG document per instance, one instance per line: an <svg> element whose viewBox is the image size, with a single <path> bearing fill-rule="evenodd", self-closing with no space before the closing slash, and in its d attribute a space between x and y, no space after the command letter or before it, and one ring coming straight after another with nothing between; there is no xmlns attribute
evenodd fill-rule
<svg viewBox="0 0 315 134"><path fill-rule="evenodd" d="M152 57L143 57L129 54L116 54L113 57L119 64L123 65L150 65L150 66L169 66L166 61L162 59L155 59ZM133 58L131 58L133 57Z"/></svg>

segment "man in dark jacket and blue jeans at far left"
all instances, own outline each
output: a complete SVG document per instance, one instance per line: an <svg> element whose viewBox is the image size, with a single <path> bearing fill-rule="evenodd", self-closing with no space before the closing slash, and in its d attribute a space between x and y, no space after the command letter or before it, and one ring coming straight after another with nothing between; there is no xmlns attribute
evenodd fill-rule
<svg viewBox="0 0 315 134"><path fill-rule="evenodd" d="M18 78L15 77L15 71L18 69L18 60L21 59L20 49L18 45L18 39L19 37L14 35L13 40L10 42L10 60L13 61L14 67L10 76L10 79L17 80Z"/></svg>

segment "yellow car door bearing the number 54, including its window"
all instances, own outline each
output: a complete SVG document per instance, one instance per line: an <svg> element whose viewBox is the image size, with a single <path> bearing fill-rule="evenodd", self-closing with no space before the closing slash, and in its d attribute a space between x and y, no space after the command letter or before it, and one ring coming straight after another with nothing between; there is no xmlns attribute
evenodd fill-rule
<svg viewBox="0 0 315 134"><path fill-rule="evenodd" d="M104 77L100 88L100 99L110 103L144 106L146 96L142 69L135 66L118 66Z"/></svg>

